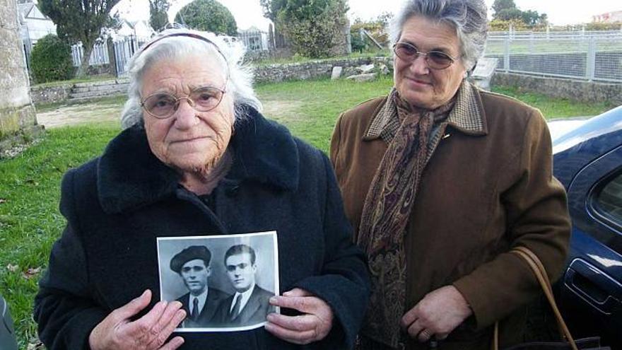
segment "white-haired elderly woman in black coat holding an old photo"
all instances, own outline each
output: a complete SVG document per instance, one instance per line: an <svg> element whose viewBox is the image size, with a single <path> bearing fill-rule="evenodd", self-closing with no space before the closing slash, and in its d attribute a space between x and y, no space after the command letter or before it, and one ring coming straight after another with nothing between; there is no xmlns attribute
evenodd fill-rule
<svg viewBox="0 0 622 350"><path fill-rule="evenodd" d="M67 224L40 281L47 349L347 349L368 301L326 156L258 112L243 52L164 32L129 64L124 130L61 187ZM264 327L176 334L156 239L276 231L281 296Z"/></svg>

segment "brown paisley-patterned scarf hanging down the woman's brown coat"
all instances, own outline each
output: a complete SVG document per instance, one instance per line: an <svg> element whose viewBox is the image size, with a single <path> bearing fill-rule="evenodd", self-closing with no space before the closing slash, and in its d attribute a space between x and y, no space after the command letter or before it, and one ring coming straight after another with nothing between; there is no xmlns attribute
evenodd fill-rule
<svg viewBox="0 0 622 350"><path fill-rule="evenodd" d="M372 279L370 307L361 331L366 337L397 348L399 322L406 312L406 257L404 234L416 197L421 173L442 135L442 123L454 100L436 110L421 110L402 101L395 89L378 118L392 135L365 197L358 245L367 253ZM392 130L393 129L393 130ZM383 130L383 132L385 132ZM392 136L392 137L391 137Z"/></svg>

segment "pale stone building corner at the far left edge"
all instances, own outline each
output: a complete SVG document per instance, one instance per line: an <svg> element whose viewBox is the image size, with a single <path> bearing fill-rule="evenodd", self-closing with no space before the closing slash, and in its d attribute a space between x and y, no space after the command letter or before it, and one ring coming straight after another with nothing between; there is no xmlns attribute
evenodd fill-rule
<svg viewBox="0 0 622 350"><path fill-rule="evenodd" d="M0 0L0 154L42 131L30 100L16 0Z"/></svg>

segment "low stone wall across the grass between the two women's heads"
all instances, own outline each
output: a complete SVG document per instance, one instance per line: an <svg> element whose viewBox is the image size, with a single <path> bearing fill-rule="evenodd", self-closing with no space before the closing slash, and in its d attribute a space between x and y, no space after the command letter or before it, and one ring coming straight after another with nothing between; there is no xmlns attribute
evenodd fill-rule
<svg viewBox="0 0 622 350"><path fill-rule="evenodd" d="M361 57L355 59L327 59L288 64L270 64L257 66L254 78L257 83L270 83L286 80L305 80L310 78L328 78L334 66L344 69L362 64L384 63L390 65L391 57Z"/></svg>

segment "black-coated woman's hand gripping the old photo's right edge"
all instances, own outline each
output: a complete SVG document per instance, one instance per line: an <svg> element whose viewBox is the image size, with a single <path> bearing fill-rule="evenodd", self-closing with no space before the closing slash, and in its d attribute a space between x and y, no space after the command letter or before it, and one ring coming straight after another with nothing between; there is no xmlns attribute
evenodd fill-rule
<svg viewBox="0 0 622 350"><path fill-rule="evenodd" d="M324 339L333 326L333 311L317 296L300 288L270 298L271 305L291 308L304 313L298 316L268 315L266 330L294 344L309 344Z"/></svg>

